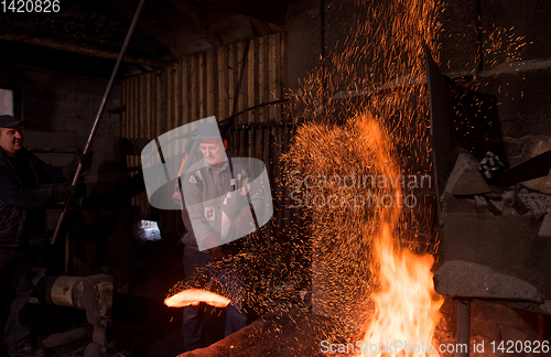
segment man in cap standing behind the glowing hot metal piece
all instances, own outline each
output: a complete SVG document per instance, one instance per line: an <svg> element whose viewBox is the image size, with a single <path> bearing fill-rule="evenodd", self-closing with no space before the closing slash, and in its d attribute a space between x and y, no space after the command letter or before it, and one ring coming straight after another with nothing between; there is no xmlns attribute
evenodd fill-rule
<svg viewBox="0 0 551 357"><path fill-rule="evenodd" d="M242 277L236 274L238 269L230 256L239 250L240 241L235 239L256 229L250 207L260 195L246 194L250 173L241 162L226 156L228 138L222 126L202 122L194 139L199 143L203 159L188 169L182 183L185 197L182 218L187 229L182 238L184 275L188 281L197 271L205 272L210 262L226 258L226 268L218 272L218 280L224 294L231 300L226 307L228 336L247 325ZM192 350L202 346L204 306L186 306L183 311L184 349Z"/></svg>

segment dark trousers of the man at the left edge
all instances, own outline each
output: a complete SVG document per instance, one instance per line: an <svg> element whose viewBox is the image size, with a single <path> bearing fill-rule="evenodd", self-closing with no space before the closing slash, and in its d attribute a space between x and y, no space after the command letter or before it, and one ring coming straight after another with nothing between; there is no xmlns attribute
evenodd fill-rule
<svg viewBox="0 0 551 357"><path fill-rule="evenodd" d="M4 324L3 339L8 348L19 348L31 343L29 327L23 321L31 292L29 253L0 248L0 321Z"/></svg>

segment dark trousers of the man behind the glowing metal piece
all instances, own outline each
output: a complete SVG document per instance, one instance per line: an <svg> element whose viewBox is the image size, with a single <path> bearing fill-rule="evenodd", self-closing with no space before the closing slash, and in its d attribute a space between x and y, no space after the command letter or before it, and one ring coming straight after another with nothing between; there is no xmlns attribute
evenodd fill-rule
<svg viewBox="0 0 551 357"><path fill-rule="evenodd" d="M204 275L209 279L210 271L205 268L210 262L210 256L202 251L185 247L184 250L184 277L188 281L197 270L203 269ZM242 291L244 286L237 277L230 274L227 270L222 270L218 273L218 280L223 290L231 289L233 295L236 294L236 289ZM205 282L203 282L204 285ZM201 339L203 337L203 315L205 313L205 304L201 303L197 306L186 306L183 309L182 331L184 335L184 350L192 350L203 347ZM242 311L239 304L231 303L226 307L226 328L225 335L228 336L240 328L247 326L247 314Z"/></svg>

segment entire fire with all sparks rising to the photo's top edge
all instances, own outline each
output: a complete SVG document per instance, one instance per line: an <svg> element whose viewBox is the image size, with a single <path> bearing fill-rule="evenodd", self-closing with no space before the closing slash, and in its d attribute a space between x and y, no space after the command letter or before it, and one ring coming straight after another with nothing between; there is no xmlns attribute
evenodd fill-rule
<svg viewBox="0 0 551 357"><path fill-rule="evenodd" d="M431 272L434 205L426 192L417 195L401 184L379 185L378 177L397 182L403 172L414 176L431 170L428 87L420 80L426 76L422 48L426 44L439 62L443 3L356 3L358 15L350 19L346 41L327 50L326 68L312 73L293 94L296 116L307 108L304 116L310 120L298 129L285 156L290 172L314 177L357 177L359 172L375 181L335 190L301 187L312 197L341 192L350 199L366 197L359 208L356 201L348 207L302 208L312 221L314 299L320 296L320 311L364 332L364 346L392 347L357 354L437 356L430 353L431 347L437 350L434 333L443 304ZM419 202L404 207L403 194L410 193ZM424 241L409 239L412 227L425 232ZM411 350L400 348L400 343Z"/></svg>

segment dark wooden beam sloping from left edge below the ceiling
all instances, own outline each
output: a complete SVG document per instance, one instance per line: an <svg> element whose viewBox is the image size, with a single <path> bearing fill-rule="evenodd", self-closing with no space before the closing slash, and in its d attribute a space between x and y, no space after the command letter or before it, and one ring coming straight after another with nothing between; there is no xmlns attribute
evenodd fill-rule
<svg viewBox="0 0 551 357"><path fill-rule="evenodd" d="M82 43L68 39L61 41L60 39L54 40L46 37L33 37L26 35L0 33L0 40L26 43L30 45L35 45L52 50L60 50L60 51L77 53L91 57L107 58L107 60L117 60L119 56L118 52L105 50L95 44L83 45ZM125 56L125 62L142 64L152 67L162 67L168 64L168 61L155 60L155 58L138 58L130 56L128 54Z"/></svg>

